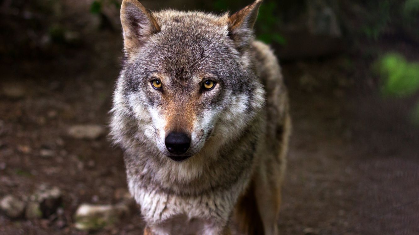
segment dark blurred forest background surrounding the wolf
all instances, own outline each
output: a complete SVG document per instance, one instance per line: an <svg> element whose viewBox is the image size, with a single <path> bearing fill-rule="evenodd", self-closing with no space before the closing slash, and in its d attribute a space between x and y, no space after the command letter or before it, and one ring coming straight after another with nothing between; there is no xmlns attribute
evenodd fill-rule
<svg viewBox="0 0 419 235"><path fill-rule="evenodd" d="M0 0L0 234L142 234L106 137L120 2ZM293 118L281 234L419 234L418 29L418 0L264 1Z"/></svg>

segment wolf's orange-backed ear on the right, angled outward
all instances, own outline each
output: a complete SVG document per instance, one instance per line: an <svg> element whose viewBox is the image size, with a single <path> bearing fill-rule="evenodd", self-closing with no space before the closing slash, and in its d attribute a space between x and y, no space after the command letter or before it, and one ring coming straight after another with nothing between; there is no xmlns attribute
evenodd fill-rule
<svg viewBox="0 0 419 235"><path fill-rule="evenodd" d="M256 0L228 18L231 38L233 38L239 48L246 47L253 39L253 25L256 22L262 1Z"/></svg>

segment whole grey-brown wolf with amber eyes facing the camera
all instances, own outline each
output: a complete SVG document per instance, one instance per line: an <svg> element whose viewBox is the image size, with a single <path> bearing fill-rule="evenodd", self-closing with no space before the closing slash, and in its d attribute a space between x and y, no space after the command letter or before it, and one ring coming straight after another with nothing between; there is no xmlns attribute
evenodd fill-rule
<svg viewBox="0 0 419 235"><path fill-rule="evenodd" d="M261 3L215 15L122 1L110 135L145 235L278 234L291 121L277 58L254 39Z"/></svg>

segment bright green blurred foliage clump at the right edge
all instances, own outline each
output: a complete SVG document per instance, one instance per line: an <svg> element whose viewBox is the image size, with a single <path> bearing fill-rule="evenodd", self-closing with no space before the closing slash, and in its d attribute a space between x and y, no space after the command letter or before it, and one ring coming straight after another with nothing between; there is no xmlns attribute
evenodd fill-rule
<svg viewBox="0 0 419 235"><path fill-rule="evenodd" d="M384 79L383 93L390 96L411 96L419 90L419 63L408 62L403 56L391 53L378 62Z"/></svg>

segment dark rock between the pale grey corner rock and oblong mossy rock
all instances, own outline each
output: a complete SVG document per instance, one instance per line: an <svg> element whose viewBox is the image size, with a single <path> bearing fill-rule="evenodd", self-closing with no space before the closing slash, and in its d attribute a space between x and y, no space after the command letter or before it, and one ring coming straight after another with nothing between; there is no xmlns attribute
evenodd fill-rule
<svg viewBox="0 0 419 235"><path fill-rule="evenodd" d="M61 202L62 193L59 188L48 188L42 185L37 192L29 197L28 205L33 205L29 208L31 211L27 210L26 212L30 216L38 217L39 211L41 211L42 217L46 218L57 211Z"/></svg>

